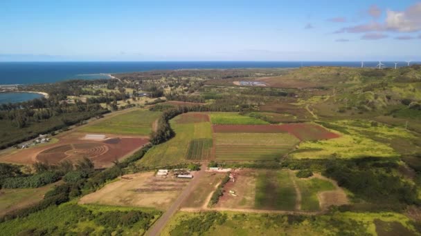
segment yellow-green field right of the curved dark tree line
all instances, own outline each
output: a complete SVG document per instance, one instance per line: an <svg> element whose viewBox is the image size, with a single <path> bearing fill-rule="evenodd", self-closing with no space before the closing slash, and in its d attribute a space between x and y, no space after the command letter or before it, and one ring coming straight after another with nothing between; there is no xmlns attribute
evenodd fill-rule
<svg viewBox="0 0 421 236"><path fill-rule="evenodd" d="M179 115L170 121L175 137L151 148L140 161L140 166L165 166L186 161L188 147L194 139L212 139L210 122L179 124Z"/></svg>

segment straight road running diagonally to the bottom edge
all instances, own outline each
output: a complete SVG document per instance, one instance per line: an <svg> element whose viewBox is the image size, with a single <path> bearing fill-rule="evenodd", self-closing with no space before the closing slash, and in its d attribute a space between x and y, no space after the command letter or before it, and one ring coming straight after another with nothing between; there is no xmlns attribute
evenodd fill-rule
<svg viewBox="0 0 421 236"><path fill-rule="evenodd" d="M156 236L161 233L161 230L165 227L166 224L168 224L168 221L170 221L171 217L177 212L177 210L179 210L181 204L186 199L186 197L188 197L188 195L190 195L190 193L195 188L195 186L197 186L197 183L199 182L201 175L205 173L205 170L206 170L206 164L203 164L201 166L201 169L195 173L192 181L190 181L188 186L184 188L183 192L181 192L179 197L177 197L177 199L170 206L170 208L168 208L168 210L165 211L163 215L161 215L161 217L155 222L152 228L147 230L146 235Z"/></svg>

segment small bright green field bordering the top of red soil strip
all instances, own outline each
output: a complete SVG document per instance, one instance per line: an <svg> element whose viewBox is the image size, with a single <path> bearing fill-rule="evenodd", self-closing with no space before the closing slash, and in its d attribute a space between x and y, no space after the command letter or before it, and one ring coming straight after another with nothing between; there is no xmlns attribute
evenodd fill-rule
<svg viewBox="0 0 421 236"><path fill-rule="evenodd" d="M236 124L236 125L261 125L269 124L267 121L240 115L237 112L212 112L210 113L212 124Z"/></svg>

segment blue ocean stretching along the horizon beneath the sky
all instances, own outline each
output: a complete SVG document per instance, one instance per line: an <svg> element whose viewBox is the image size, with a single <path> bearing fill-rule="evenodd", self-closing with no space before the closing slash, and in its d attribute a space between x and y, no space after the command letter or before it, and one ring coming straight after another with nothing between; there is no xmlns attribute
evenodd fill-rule
<svg viewBox="0 0 421 236"><path fill-rule="evenodd" d="M375 67L378 62L364 62ZM394 66L384 62L386 66ZM400 63L400 66L406 63ZM0 62L0 84L53 83L67 79L106 79L106 74L146 70L203 68L298 68L300 66L359 67L359 61L108 61Z"/></svg>

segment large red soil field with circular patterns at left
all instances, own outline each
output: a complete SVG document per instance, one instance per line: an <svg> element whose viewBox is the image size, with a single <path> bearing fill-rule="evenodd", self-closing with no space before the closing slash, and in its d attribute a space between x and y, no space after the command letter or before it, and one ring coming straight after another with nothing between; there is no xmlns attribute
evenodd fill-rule
<svg viewBox="0 0 421 236"><path fill-rule="evenodd" d="M17 153L0 157L0 161L16 164L48 161L49 164L57 164L66 159L75 162L88 157L96 168L104 168L110 166L112 161L133 153L148 142L148 139L140 137L114 137L101 141L67 137L60 139L57 144L19 150Z"/></svg>

